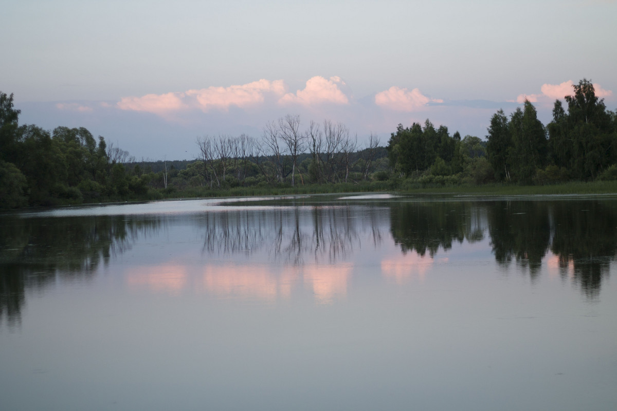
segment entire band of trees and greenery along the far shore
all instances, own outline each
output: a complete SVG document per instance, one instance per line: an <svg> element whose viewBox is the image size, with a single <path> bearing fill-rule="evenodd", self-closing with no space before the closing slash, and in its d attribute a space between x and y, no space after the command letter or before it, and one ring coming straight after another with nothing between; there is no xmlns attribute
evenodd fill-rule
<svg viewBox="0 0 617 411"><path fill-rule="evenodd" d="M259 138L197 137L193 160L136 161L85 128L19 125L0 92L0 210L36 206L391 192L453 195L617 193L617 113L582 79L544 126L528 100L491 118L486 140L445 126L399 124L360 147L341 123L271 121Z"/></svg>

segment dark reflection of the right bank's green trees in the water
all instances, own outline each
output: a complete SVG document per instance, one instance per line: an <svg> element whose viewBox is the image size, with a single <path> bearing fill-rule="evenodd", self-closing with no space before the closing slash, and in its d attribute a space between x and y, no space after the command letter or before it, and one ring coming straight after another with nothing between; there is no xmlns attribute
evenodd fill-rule
<svg viewBox="0 0 617 411"><path fill-rule="evenodd" d="M392 237L401 250L434 258L453 242L482 240L488 230L495 260L512 261L537 280L547 252L562 276L596 298L617 250L617 208L611 200L410 202L392 206Z"/></svg>

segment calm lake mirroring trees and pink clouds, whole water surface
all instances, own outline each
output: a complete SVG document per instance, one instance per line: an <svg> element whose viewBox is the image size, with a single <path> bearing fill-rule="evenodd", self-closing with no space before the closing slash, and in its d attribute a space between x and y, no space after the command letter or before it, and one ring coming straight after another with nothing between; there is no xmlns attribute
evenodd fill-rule
<svg viewBox="0 0 617 411"><path fill-rule="evenodd" d="M3 410L615 410L617 196L0 214Z"/></svg>

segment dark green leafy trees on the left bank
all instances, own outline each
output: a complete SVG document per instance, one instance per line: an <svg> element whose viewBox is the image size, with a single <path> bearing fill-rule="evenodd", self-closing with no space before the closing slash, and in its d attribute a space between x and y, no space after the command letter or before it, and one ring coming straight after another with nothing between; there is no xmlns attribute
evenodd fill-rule
<svg viewBox="0 0 617 411"><path fill-rule="evenodd" d="M13 95L0 92L0 208L93 202L143 194L126 174L128 152L87 129L19 125Z"/></svg>

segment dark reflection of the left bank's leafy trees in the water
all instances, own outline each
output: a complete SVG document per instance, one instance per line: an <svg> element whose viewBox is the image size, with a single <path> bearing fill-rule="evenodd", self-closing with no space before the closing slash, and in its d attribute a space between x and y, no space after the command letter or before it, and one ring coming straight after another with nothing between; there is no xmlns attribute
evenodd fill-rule
<svg viewBox="0 0 617 411"><path fill-rule="evenodd" d="M159 218L125 216L0 218L0 322L20 324L26 289L91 279L101 263L160 224Z"/></svg>

